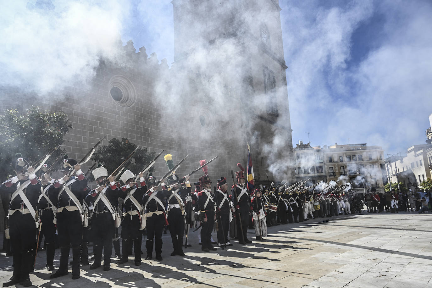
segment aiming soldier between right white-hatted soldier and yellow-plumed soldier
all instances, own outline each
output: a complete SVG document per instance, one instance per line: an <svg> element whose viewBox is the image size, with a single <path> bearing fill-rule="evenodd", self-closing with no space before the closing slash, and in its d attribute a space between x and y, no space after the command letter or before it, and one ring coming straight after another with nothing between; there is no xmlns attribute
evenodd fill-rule
<svg viewBox="0 0 432 288"><path fill-rule="evenodd" d="M165 205L162 201L165 197L168 198L171 193L167 191L165 183L160 185L162 190L158 191L157 187L153 186L143 196L147 228L146 260L152 260L154 245L156 260L162 261L162 230L164 226L168 225Z"/></svg>

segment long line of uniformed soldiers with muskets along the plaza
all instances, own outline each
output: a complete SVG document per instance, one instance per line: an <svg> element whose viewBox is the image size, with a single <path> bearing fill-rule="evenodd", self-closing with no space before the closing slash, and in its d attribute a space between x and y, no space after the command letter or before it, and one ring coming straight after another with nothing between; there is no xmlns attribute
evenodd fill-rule
<svg viewBox="0 0 432 288"><path fill-rule="evenodd" d="M327 193L310 193L309 187L299 190L297 186L293 190L272 185L270 189L263 186L249 191L245 169L240 163L231 194L226 177L219 178L212 191L205 161L200 162L204 175L194 183L194 192L188 175L181 178L173 172L166 178L167 186L164 179L157 181L152 174L145 179L143 172L135 176L126 170L120 176L123 183L120 184L102 166L92 171L98 187L90 190L81 165L67 155L62 163L64 176L58 180L52 179L47 169L42 169L46 173L37 177L29 161L21 155L17 155L13 165L16 176L0 186L0 193L12 195L8 216L13 276L3 283L5 287L16 283L25 287L32 285L29 273L36 259L38 231L45 237L46 267L50 271L54 270L54 235L56 231L58 234L60 265L50 278L69 274L72 248L72 279L78 279L80 264L89 265L90 234L94 262L89 269L102 265L104 271L111 269L113 241L119 243L120 225L121 252L120 245L114 244L120 256L118 264L128 262L133 247L134 264L139 266L143 229L147 233L145 259L152 260L154 250L156 260L162 261L162 232L168 223L173 245L171 256L185 256L183 246L190 246L187 237L193 223L201 229L201 249L207 252L217 250L212 245L211 235L215 222L217 244L227 247L232 246L228 237L238 239L239 244L252 243L247 237L250 220L254 224L256 241L263 241L263 237L267 237L267 225L302 222L308 220L308 215L311 218L341 215L343 210L350 213L349 201L343 196L337 198L332 189L327 189ZM122 208L119 208L119 199L122 199Z"/></svg>

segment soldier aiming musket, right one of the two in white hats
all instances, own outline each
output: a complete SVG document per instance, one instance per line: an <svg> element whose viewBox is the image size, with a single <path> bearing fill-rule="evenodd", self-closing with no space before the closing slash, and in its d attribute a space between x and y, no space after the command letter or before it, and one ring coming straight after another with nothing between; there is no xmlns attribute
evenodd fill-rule
<svg viewBox="0 0 432 288"><path fill-rule="evenodd" d="M126 263L129 260L129 251L134 250L135 265L141 265L141 243L143 235L141 232L143 211L143 196L147 192L146 180L144 174L139 175L140 187L133 182L135 175L130 170L126 170L121 174L120 180L124 185L118 188L120 197L123 202L123 219L121 221L121 249L122 256L118 264ZM154 183L154 181L153 181Z"/></svg>

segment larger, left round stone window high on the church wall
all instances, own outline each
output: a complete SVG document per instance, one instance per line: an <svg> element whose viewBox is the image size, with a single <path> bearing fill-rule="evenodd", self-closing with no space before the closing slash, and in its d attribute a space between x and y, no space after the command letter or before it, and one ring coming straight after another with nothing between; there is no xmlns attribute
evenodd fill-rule
<svg viewBox="0 0 432 288"><path fill-rule="evenodd" d="M137 101L137 90L126 76L112 76L108 82L108 89L113 100L122 107L132 107Z"/></svg>

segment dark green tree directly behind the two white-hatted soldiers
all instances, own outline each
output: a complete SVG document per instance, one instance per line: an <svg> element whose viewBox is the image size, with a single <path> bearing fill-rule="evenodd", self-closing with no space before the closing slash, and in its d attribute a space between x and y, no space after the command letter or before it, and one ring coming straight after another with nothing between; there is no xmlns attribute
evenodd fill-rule
<svg viewBox="0 0 432 288"><path fill-rule="evenodd" d="M129 139L122 138L119 140L117 138L112 138L108 142L108 145L101 146L96 150L95 154L93 154L93 160L101 163L108 170L108 174L111 174L137 147L138 146L130 142ZM155 151L148 152L147 148L140 148L130 159L130 162L126 164L126 168L123 172L129 169L134 174L138 174L143 171L155 157ZM150 172L151 171L153 171L153 168L150 169ZM87 179L93 181L94 177L92 174L89 174ZM116 180L120 179L117 178Z"/></svg>

